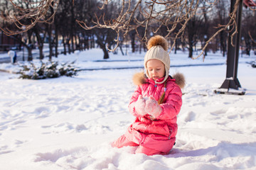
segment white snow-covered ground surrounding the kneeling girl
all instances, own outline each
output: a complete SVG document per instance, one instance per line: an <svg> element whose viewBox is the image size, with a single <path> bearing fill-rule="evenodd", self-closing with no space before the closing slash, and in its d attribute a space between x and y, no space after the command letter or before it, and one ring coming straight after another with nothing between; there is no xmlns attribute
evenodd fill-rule
<svg viewBox="0 0 256 170"><path fill-rule="evenodd" d="M143 67L144 53L110 53L110 62L94 62L102 56L95 49L58 60L77 60L80 69ZM213 92L225 80L225 57L209 53L202 62L187 56L171 53L170 74L183 73L187 84L176 145L165 156L110 145L134 120L127 106L135 89L132 76L141 69L82 71L39 81L0 72L0 169L256 169L256 69L247 64L256 56L239 59L244 96ZM197 66L184 67L191 64ZM16 67L0 64L0 69Z"/></svg>

